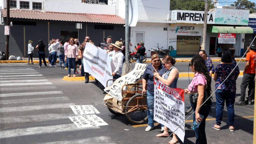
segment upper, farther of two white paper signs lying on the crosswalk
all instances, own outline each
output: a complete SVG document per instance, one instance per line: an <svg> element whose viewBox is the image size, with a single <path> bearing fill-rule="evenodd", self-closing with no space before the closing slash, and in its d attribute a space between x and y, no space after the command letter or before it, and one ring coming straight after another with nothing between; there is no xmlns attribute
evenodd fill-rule
<svg viewBox="0 0 256 144"><path fill-rule="evenodd" d="M70 107L76 115L87 115L87 114L98 114L98 113L100 113L92 105L70 105Z"/></svg>

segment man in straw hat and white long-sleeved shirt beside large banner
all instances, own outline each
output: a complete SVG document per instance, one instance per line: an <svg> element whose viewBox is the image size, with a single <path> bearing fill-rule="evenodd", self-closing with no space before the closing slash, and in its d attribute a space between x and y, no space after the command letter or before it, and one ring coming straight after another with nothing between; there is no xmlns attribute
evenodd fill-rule
<svg viewBox="0 0 256 144"><path fill-rule="evenodd" d="M118 79L122 75L122 68L123 68L123 59L124 55L122 53L122 43L116 41L114 44L112 43L114 51L109 52L109 56L112 56L111 60L111 69L112 69L112 76L113 79Z"/></svg>

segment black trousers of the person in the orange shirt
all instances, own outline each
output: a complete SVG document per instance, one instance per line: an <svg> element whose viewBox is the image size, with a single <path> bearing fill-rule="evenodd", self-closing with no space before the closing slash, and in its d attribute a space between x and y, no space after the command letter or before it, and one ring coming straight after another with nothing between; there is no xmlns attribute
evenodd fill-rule
<svg viewBox="0 0 256 144"><path fill-rule="evenodd" d="M248 100L251 101L254 97L255 93L255 74L244 74L244 77L242 79L241 83L241 101L245 101L245 91L248 86Z"/></svg>

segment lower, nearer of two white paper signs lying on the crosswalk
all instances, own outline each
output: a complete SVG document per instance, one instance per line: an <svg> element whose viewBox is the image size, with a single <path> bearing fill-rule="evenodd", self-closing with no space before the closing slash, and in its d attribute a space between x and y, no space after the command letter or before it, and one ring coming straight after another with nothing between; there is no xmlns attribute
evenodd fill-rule
<svg viewBox="0 0 256 144"><path fill-rule="evenodd" d="M108 125L103 119L96 115L84 115L68 117L78 128Z"/></svg>

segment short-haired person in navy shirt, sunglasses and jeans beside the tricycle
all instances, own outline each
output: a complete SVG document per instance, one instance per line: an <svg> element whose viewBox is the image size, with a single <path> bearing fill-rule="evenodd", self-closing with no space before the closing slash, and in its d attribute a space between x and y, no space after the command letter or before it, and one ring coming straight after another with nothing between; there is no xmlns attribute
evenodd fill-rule
<svg viewBox="0 0 256 144"><path fill-rule="evenodd" d="M157 54L151 56L151 63L151 65L146 67L142 77L142 94L147 93L148 127L145 129L147 132L151 131L154 127L154 71L158 72L160 76L166 71Z"/></svg>

